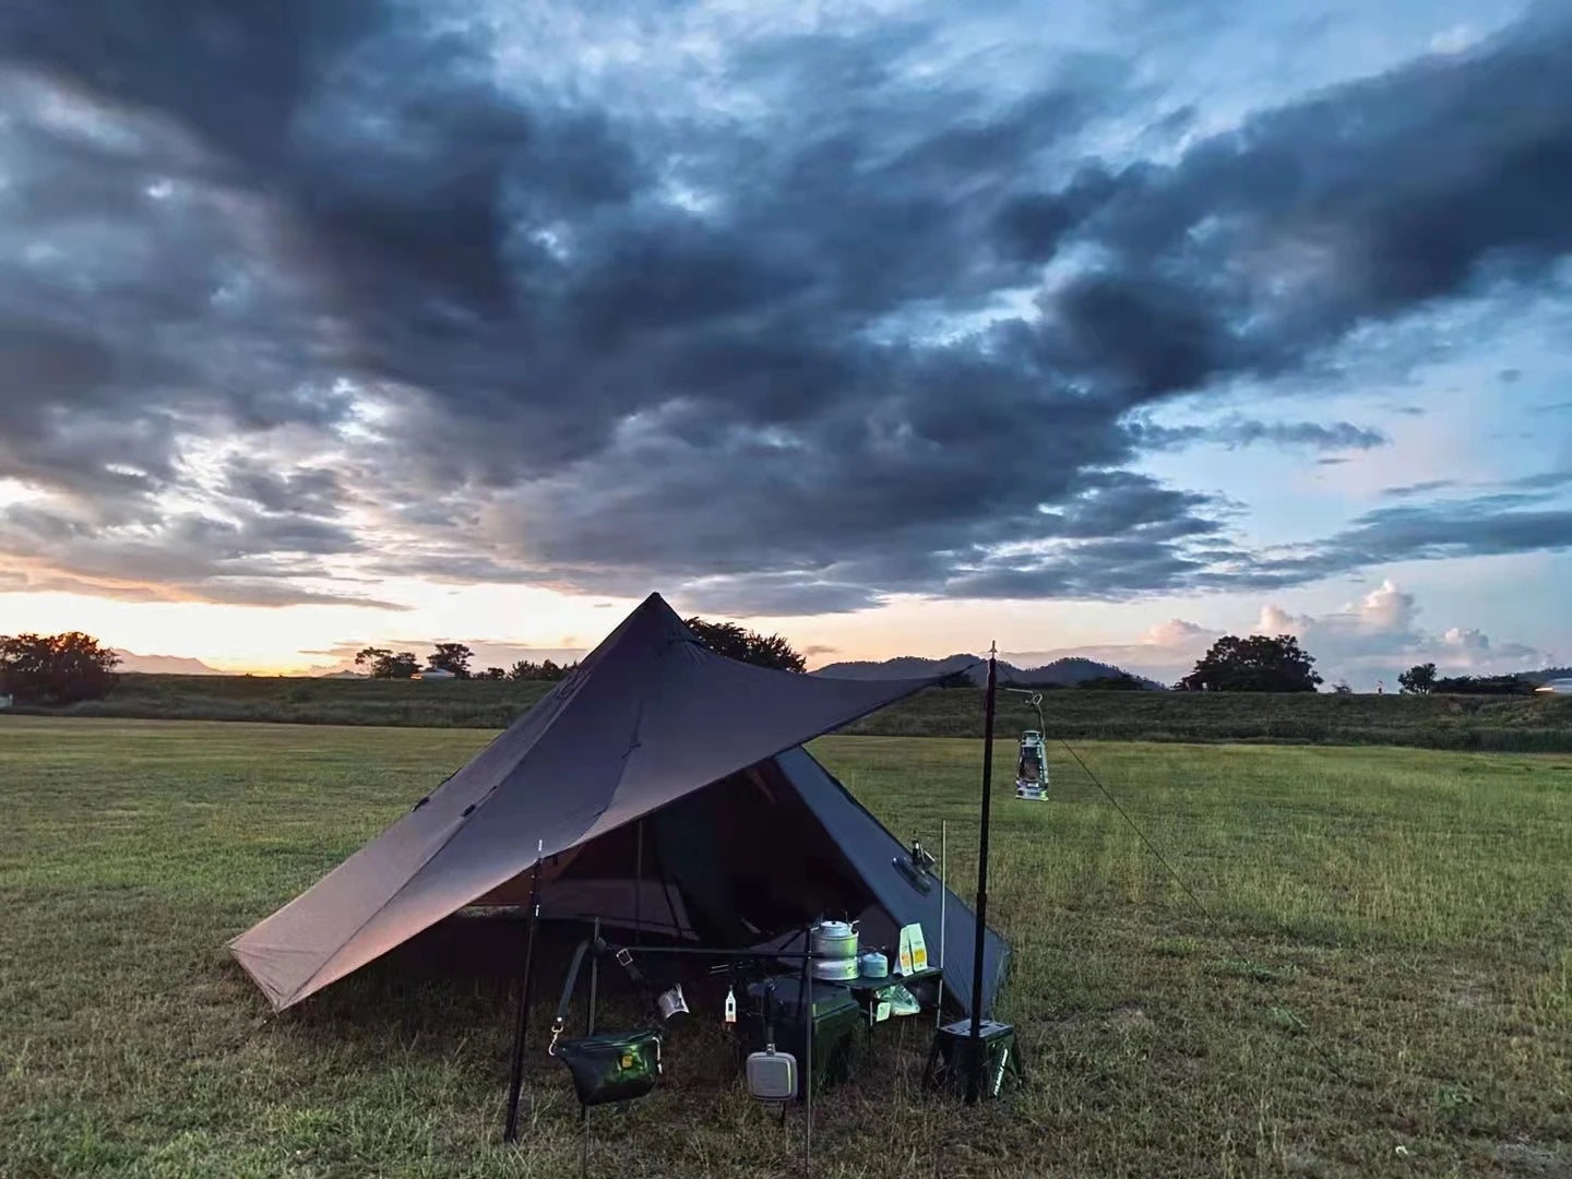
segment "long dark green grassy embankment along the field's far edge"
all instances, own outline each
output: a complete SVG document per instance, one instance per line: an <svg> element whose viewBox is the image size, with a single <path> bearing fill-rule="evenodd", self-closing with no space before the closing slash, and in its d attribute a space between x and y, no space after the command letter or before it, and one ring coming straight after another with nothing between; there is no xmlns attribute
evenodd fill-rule
<svg viewBox="0 0 1572 1179"><path fill-rule="evenodd" d="M283 676L123 676L102 701L66 715L145 720L267 720L302 725L505 728L549 684L374 681ZM1572 753L1572 696L1338 696L1331 693L1044 693L1053 736L1077 740L1261 740ZM1034 725L1014 693L1006 726ZM860 736L979 737L981 693L931 690L846 729Z"/></svg>

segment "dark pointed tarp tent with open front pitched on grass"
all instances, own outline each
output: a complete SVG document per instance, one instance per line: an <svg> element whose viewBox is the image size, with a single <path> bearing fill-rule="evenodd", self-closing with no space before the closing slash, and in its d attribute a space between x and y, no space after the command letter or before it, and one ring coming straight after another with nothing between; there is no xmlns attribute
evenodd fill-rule
<svg viewBox="0 0 1572 1179"><path fill-rule="evenodd" d="M865 945L921 921L942 888L803 742L932 681L847 681L707 651L651 594L566 679L380 836L230 943L288 1008L461 909L522 899L740 948L819 915ZM539 849L539 857L538 857ZM945 986L970 1009L975 918L945 904ZM989 931L987 1009L1009 949ZM960 964L965 968L960 968Z"/></svg>

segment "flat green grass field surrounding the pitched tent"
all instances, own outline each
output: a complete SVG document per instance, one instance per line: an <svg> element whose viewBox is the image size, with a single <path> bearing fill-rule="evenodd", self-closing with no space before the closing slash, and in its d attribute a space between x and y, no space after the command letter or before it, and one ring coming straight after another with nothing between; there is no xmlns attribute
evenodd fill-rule
<svg viewBox="0 0 1572 1179"><path fill-rule="evenodd" d="M487 736L0 717L0 1174L575 1174L541 1039L498 1143L500 982L374 965L259 1022L220 949ZM814 751L902 838L948 819L970 880L973 742ZM907 1025L824 1096L816 1174L1572 1176L1572 758L1078 751L1212 916L1060 750L1052 803L995 810L1027 1089L923 1100ZM591 1171L791 1173L795 1118L714 1056L597 1111Z"/></svg>

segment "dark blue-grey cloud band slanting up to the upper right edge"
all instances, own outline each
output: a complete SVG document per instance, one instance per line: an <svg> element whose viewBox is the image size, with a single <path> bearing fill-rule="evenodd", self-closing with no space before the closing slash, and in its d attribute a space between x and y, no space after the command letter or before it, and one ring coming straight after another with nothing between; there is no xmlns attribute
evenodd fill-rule
<svg viewBox="0 0 1572 1179"><path fill-rule="evenodd" d="M1075 231L1108 261L1044 299L1047 355L1143 398L1276 374L1358 324L1542 274L1572 248L1569 30L1545 9L1097 178Z"/></svg>

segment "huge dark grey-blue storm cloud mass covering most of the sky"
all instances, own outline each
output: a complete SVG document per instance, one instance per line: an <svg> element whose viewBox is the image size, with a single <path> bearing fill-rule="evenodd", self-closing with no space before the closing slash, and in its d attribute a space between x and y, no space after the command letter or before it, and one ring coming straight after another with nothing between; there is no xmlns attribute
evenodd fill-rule
<svg viewBox="0 0 1572 1179"><path fill-rule="evenodd" d="M20 374L0 475L71 497L80 531L14 517L6 550L217 594L371 547L388 571L676 582L755 613L1223 583L1250 566L1226 506L1121 472L1176 442L1132 410L1289 373L1572 247L1566 22L1170 167L1074 171L1137 102L1127 66L1067 61L998 105L907 80L932 36L755 44L733 66L767 99L750 124L523 99L479 31L371 0L8 6L25 101L0 159L24 182L0 233L46 248L0 261ZM967 319L1069 256L1038 316ZM332 461L236 464L211 492L226 523L170 514L185 440L297 428L355 454L387 538L346 523ZM1399 525L1368 517L1319 558L1456 547Z"/></svg>

